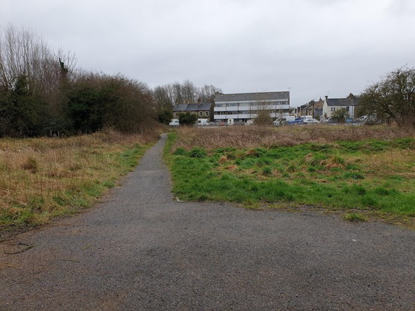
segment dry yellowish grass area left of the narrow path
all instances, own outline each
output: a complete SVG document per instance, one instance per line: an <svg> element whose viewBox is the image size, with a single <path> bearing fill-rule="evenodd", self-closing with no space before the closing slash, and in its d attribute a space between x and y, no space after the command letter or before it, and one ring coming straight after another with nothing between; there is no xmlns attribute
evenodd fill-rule
<svg viewBox="0 0 415 311"><path fill-rule="evenodd" d="M90 207L138 163L158 134L104 131L73 138L0 140L1 231Z"/></svg>

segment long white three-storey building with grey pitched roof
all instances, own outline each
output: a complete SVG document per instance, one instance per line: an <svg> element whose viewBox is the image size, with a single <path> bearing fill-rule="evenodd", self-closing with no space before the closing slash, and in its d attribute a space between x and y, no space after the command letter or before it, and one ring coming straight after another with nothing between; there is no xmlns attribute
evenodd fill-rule
<svg viewBox="0 0 415 311"><path fill-rule="evenodd" d="M290 109L290 92L262 93L217 93L214 97L214 121L246 122L257 117L261 110L266 110L270 117L288 116Z"/></svg>

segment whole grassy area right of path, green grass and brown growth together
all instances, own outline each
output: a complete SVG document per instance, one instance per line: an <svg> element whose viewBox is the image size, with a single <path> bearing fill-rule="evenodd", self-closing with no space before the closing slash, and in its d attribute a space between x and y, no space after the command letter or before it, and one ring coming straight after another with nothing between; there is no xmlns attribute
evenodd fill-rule
<svg viewBox="0 0 415 311"><path fill-rule="evenodd" d="M415 216L415 135L396 128L179 129L166 157L186 200Z"/></svg>

